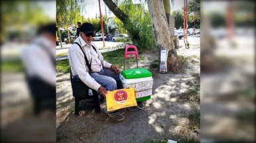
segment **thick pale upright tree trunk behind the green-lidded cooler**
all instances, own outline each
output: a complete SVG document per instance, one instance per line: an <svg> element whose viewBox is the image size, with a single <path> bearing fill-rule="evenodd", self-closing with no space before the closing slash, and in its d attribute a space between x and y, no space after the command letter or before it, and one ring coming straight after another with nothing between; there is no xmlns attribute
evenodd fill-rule
<svg viewBox="0 0 256 143"><path fill-rule="evenodd" d="M167 69L168 71L179 73L178 55L174 42L170 39L170 30L164 13L164 4L162 1L148 1L148 7L149 13L151 14L153 36L159 54L160 49L168 49Z"/></svg>

